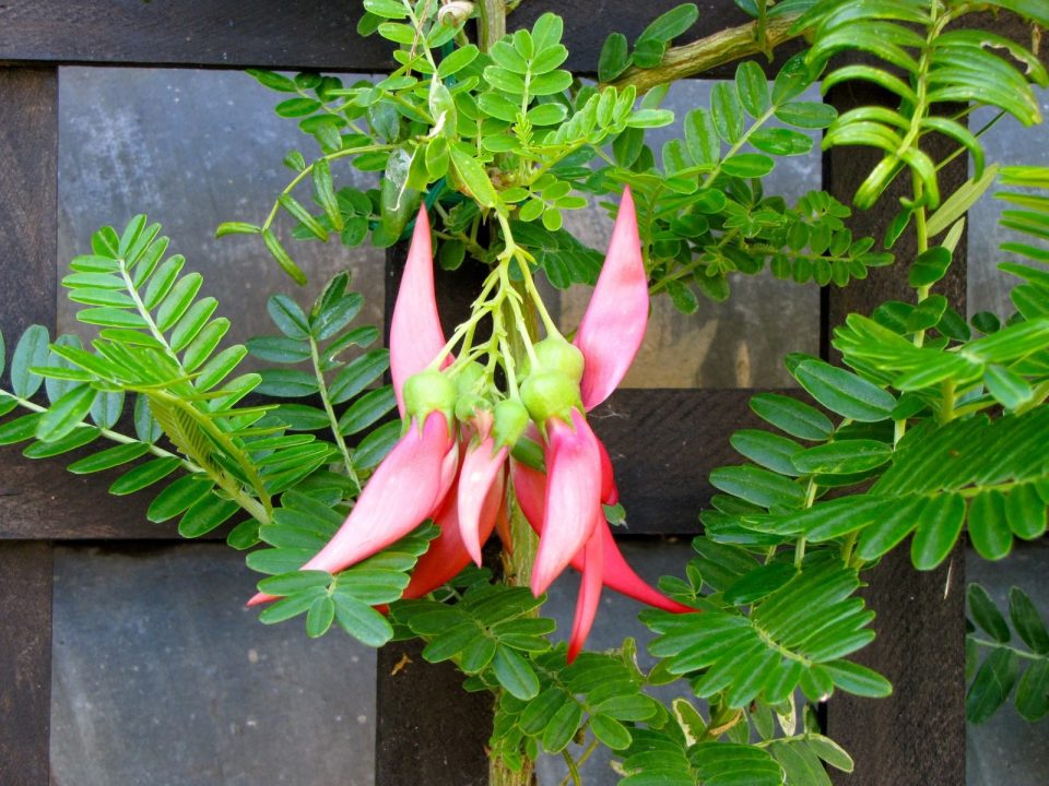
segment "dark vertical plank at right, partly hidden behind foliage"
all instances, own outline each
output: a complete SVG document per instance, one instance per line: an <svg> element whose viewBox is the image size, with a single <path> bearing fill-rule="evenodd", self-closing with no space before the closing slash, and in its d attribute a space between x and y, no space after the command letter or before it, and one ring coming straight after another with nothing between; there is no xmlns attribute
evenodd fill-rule
<svg viewBox="0 0 1049 786"><path fill-rule="evenodd" d="M839 111L861 104L888 103L873 88L850 85L832 91ZM951 152L932 151L939 160ZM881 154L869 148L834 148L825 159L825 188L842 202L851 200ZM941 170L941 190L951 193L967 177L959 156ZM856 216L857 237L881 238L899 209L898 196L910 192L901 177L872 210ZM917 253L912 233L893 249L897 262L875 269L863 282L827 293L828 327L833 331L850 311L869 314L891 298L914 299L907 271ZM936 291L965 313L965 243L955 252L948 276ZM834 353L830 353L834 355ZM940 570L921 573L908 549L887 555L864 576L864 595L877 612L877 639L857 659L888 677L894 693L884 700L835 694L827 706L827 733L856 759L856 773L835 772L835 783L849 786L923 784L959 786L965 782L965 560L960 549Z"/></svg>

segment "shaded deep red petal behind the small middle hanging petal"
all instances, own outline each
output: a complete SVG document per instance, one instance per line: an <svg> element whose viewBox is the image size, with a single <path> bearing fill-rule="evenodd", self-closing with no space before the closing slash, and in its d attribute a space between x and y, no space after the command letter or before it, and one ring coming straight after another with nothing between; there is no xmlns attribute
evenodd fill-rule
<svg viewBox="0 0 1049 786"><path fill-rule="evenodd" d="M503 505L503 492L500 473L490 485L484 504L479 511L479 537L482 543L488 539L495 528L496 517ZM440 511L434 516L434 523L440 527L440 535L431 541L426 553L419 558L402 597L416 598L433 592L455 579L470 562L470 555L460 534L460 501L457 489L452 488Z"/></svg>

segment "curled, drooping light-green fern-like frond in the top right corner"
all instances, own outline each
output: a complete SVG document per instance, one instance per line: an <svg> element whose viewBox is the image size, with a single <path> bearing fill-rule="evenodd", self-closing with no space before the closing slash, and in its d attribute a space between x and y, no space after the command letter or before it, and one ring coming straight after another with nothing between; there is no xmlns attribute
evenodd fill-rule
<svg viewBox="0 0 1049 786"><path fill-rule="evenodd" d="M953 24L983 5L998 5L1046 24L1038 2L963 0L823 0L798 21L811 28L810 62L825 64L839 51L861 51L875 64L853 63L824 78L823 90L848 82L873 82L899 99L895 108L860 107L838 118L827 130L824 147L864 145L884 153L857 190L854 202L870 207L905 170L920 183L910 207L940 204L938 162L923 150L930 134L943 134L969 151L977 176L983 169L978 138L962 115L936 116L936 105L971 104L1009 112L1025 126L1040 122L1030 83L1045 87L1049 74L1038 57L1003 36Z"/></svg>

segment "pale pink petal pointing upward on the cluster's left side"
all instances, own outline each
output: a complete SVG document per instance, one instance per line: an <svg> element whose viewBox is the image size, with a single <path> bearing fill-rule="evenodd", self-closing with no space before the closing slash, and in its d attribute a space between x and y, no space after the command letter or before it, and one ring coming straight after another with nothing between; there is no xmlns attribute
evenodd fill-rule
<svg viewBox="0 0 1049 786"><path fill-rule="evenodd" d="M429 243L429 218L419 211L408 262L390 320L390 377L397 407L404 417L401 390L404 380L425 369L445 346L445 333L434 296L434 255Z"/></svg>

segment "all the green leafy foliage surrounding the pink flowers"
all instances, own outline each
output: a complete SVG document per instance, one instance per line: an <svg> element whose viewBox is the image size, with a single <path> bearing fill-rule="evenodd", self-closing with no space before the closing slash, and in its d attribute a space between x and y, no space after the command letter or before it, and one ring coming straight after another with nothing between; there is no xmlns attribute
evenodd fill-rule
<svg viewBox="0 0 1049 786"><path fill-rule="evenodd" d="M1037 4L993 4L1047 22ZM662 584L704 614L643 614L656 634L650 672L636 666L629 641L569 666L563 646L546 638L553 623L539 616L539 602L522 587L490 584L482 571L433 598L398 602L432 527L338 576L298 572L399 432L398 424L377 426L393 407L391 390L375 386L388 364L379 332L357 319L362 298L341 275L313 303L272 298L272 335L223 346L227 320L214 317L201 277L184 271L144 216L96 233L63 279L82 306L78 318L99 329L96 341L52 341L37 326L0 352L11 378L0 408L12 414L0 441L24 442L34 458L95 445L70 469L126 465L114 493L169 481L150 507L152 520L177 519L187 537L233 524L231 545L251 549L249 565L270 575L260 588L286 596L263 611L264 622L305 616L311 636L339 627L373 645L424 639L427 659L453 660L468 689L495 694L492 747L510 771L541 750L567 750L577 736L617 751L622 782L633 786L823 783L821 762L849 770L847 753L794 696L815 703L835 691L876 698L891 690L850 657L874 635L874 611L856 594L862 571L908 537L916 569L929 570L963 531L992 560L1045 532L1049 181L1040 169L985 163L970 131L930 112L934 103L976 100L1034 123L1028 80L1044 86L1044 69L1018 45L1003 58L985 48L988 34L945 32L952 15L970 10L965 3L907 2L891 13L871 2L780 3L767 19L803 11L797 24L813 31L813 49L770 86L756 64L742 63L709 107L686 114L683 139L655 151L645 129L672 119L660 91L637 103L629 85L573 88L558 68L556 17L544 15L530 34L482 55L453 47L455 28L433 24L420 7L365 5L362 32L398 46L404 73L351 86L316 74L255 74L286 94L278 114L296 118L315 143L308 155L287 154L288 188L261 221L226 223L219 233L258 236L296 281L305 274L290 237L389 246L423 199L441 217L437 257L446 269L467 255L492 261L497 246L478 240L481 211L505 210L537 269L564 287L592 284L600 265L600 254L563 228L565 212L629 184L645 216L651 291L685 313L703 298L729 297L732 274L767 270L799 284L845 286L893 263L887 249L901 233L918 234L918 258L895 260L909 266L915 300L851 314L833 337L846 368L788 357L802 401L752 400L767 426L733 437L740 462L711 475L721 493L703 513L696 557L684 579ZM766 19L764 4L754 11ZM694 7L685 5L636 41L613 36L602 80L621 75L627 58L638 68L658 64L694 22ZM842 49L865 51L875 64L826 66ZM900 106L836 117L799 100L821 72L824 90L874 81ZM853 238L852 207L825 193L795 204L764 193L761 178L777 158L811 146L798 129L826 129L824 146L884 152L857 207L896 178L914 183L885 237ZM940 192L939 162L922 150L930 133L974 156L973 180L953 194ZM343 159L381 172L381 187L338 187L333 167ZM505 179L496 182L493 167ZM1003 223L1016 239L1003 249L1012 261L1002 269L1016 277L1016 312L967 322L936 285L965 210L991 188L1011 204ZM248 354L272 366L239 373ZM118 429L126 401L130 431ZM374 608L387 604L394 604L388 615ZM1024 717L1042 717L1049 669L1039 611L1019 590L999 609L973 587L969 605L969 718L981 722L1010 700ZM694 699L665 706L645 693L675 679Z"/></svg>

